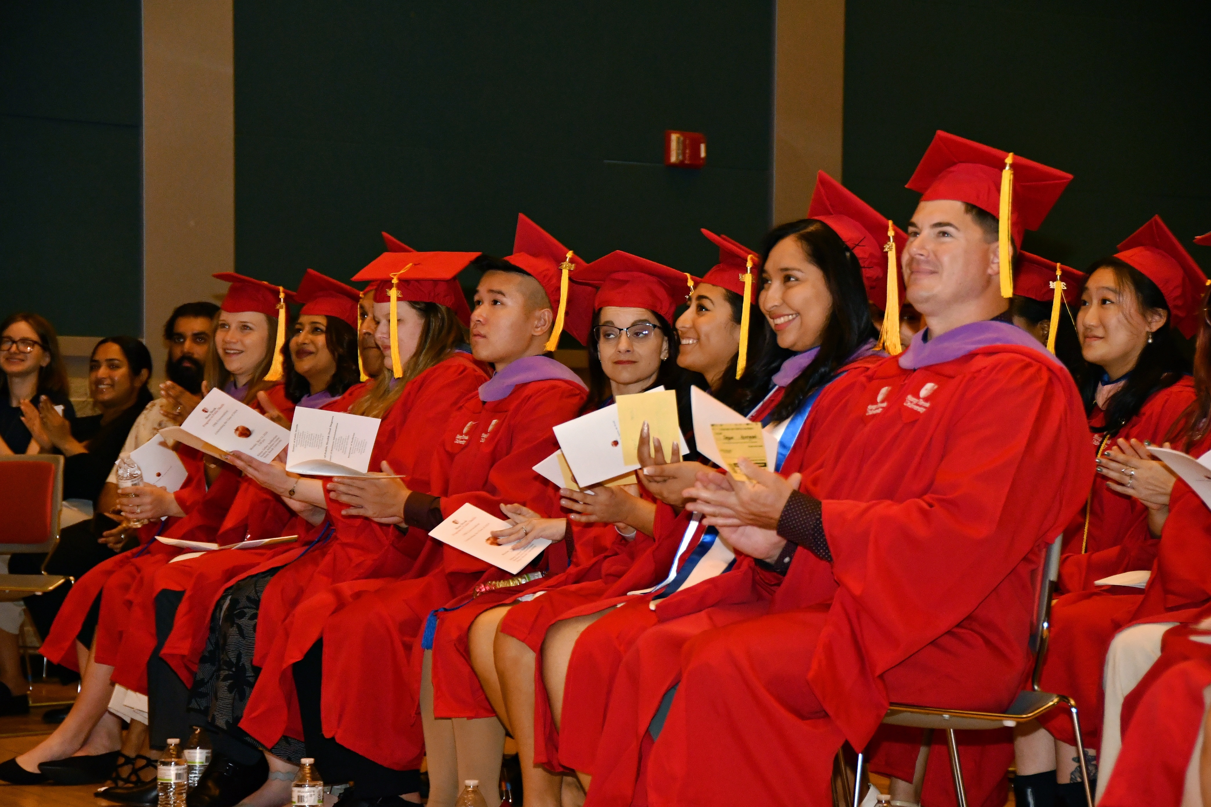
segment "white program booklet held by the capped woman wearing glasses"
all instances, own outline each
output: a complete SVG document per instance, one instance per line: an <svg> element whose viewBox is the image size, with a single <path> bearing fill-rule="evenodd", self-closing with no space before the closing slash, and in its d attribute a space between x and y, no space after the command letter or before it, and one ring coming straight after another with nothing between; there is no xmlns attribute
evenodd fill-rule
<svg viewBox="0 0 1211 807"><path fill-rule="evenodd" d="M665 393L664 387L656 387L654 390L648 390L647 392L622 396L619 400L626 400L629 398L645 398L648 396L662 394ZM676 396L672 391L667 394ZM677 428L677 399L673 397L673 437L671 440L662 440L665 449L671 449L672 443L677 440L677 444L684 450L685 438L682 436L681 430ZM643 425L641 419L639 425ZM573 420L559 423L555 427L555 438L559 442L559 450L563 453L563 460L567 462L568 468L572 472L574 482L580 488L587 488L590 485L607 484L607 485L629 485L635 484L635 471L638 469L638 462L627 462L622 454L624 437L622 428L619 422L619 409L618 404L610 404L609 407L602 407L596 411L591 411L587 415L581 415ZM635 454L635 449L639 443L639 432L636 428L635 440L631 443L631 454ZM555 456L555 455L552 455ZM553 471L552 466L546 463L551 460L547 457L534 469L547 479L555 480L553 474L547 475L544 469L550 468ZM567 486L567 485L564 485Z"/></svg>

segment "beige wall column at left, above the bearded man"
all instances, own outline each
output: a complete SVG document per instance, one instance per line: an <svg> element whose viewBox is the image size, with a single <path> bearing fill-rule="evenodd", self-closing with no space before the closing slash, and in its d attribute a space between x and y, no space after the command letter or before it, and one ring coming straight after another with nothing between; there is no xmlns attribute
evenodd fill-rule
<svg viewBox="0 0 1211 807"><path fill-rule="evenodd" d="M162 376L163 321L219 301L235 266L233 0L143 0L143 333Z"/></svg>

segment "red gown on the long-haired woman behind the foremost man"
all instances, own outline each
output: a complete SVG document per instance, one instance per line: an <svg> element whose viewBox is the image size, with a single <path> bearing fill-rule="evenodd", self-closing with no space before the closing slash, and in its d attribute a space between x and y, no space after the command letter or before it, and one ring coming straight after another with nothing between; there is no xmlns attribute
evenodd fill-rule
<svg viewBox="0 0 1211 807"><path fill-rule="evenodd" d="M1098 450L1101 454L1118 450L1119 439L1149 440L1153 445L1163 445L1173 422L1193 402L1194 381L1183 377L1148 398L1136 416L1108 439L1103 432L1092 432L1094 454L1100 456ZM1089 419L1090 427L1101 426L1104 415L1095 407ZM1184 450L1181 445L1175 448ZM1107 488L1106 478L1097 474L1086 507L1064 530L1063 553L1060 561L1061 593L1092 590L1094 581L1150 569L1157 557L1157 540L1148 532L1148 511L1138 500Z"/></svg>

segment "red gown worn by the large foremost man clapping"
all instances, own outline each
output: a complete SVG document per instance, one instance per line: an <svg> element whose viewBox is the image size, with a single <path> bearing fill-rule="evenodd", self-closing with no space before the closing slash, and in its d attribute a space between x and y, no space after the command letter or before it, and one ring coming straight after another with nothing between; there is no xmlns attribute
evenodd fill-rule
<svg viewBox="0 0 1211 807"><path fill-rule="evenodd" d="M1001 709L1025 678L1044 542L1092 482L1071 376L1006 345L866 375L804 478L833 563L798 552L769 616L685 645L653 805L828 803L837 749L889 702Z"/></svg>

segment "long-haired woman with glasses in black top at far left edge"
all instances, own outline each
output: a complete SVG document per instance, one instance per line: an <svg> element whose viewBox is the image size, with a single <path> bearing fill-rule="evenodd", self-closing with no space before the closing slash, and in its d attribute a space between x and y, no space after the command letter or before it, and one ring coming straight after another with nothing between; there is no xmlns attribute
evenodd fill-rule
<svg viewBox="0 0 1211 807"><path fill-rule="evenodd" d="M13 313L0 323L0 455L36 454L22 421L22 400L50 398L75 419L68 400L68 371L63 367L54 328L36 313Z"/></svg>

